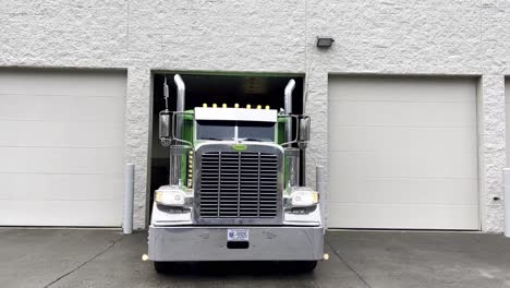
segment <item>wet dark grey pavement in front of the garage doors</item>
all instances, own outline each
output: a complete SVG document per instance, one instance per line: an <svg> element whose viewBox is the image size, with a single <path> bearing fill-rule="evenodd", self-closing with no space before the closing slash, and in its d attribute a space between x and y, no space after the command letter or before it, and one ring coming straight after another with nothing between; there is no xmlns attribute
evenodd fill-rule
<svg viewBox="0 0 510 288"><path fill-rule="evenodd" d="M510 239L454 232L337 231L313 274L272 265L143 262L146 232L0 229L0 287L510 287Z"/></svg>

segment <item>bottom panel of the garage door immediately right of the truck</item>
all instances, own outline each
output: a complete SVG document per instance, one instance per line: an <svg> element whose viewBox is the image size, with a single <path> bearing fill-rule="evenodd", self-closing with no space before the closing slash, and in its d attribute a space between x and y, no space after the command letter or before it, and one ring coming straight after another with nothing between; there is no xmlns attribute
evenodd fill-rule
<svg viewBox="0 0 510 288"><path fill-rule="evenodd" d="M331 204L328 219L341 219L343 228L476 230L476 205Z"/></svg>

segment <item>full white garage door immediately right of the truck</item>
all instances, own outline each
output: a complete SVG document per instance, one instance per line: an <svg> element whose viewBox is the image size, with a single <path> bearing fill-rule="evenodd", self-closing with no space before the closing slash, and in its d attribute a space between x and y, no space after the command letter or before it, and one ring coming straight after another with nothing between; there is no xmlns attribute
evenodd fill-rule
<svg viewBox="0 0 510 288"><path fill-rule="evenodd" d="M479 229L476 83L329 79L328 226Z"/></svg>

